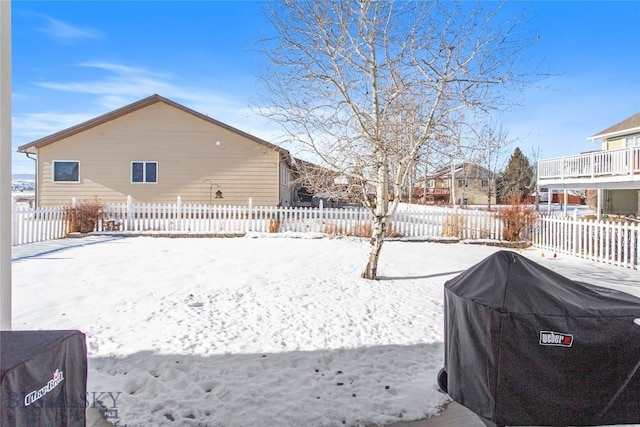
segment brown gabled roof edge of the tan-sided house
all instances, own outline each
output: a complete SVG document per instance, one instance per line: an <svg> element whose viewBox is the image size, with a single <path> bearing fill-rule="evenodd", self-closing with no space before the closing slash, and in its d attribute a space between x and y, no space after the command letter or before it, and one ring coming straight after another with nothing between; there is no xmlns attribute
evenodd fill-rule
<svg viewBox="0 0 640 427"><path fill-rule="evenodd" d="M220 126L224 129L227 129L231 132L234 132L236 134L242 135L245 138L248 138L254 142L257 142L258 144L264 145L265 147L271 148L277 152L279 152L281 155L283 155L285 157L285 159L287 160L287 162L291 165L293 164L292 160L291 160L291 155L289 154L289 152L287 150L285 150L284 148L278 147L275 144L272 144L270 142L267 142L263 139L260 139L256 136L253 136L251 134L248 134L246 132L241 131L240 129L236 129L232 126L229 126L226 123L222 123L218 120L212 119L211 117L199 113L195 110L192 110L188 107L185 107L184 105L178 104L177 102L171 101L170 99L164 98L158 94L154 94L151 95L147 98L141 99L140 101L136 101L132 104L126 105L122 108L118 108L116 110L113 110L109 113L103 114L101 116L95 117L93 119L87 120L86 122L80 123L78 125L72 126L70 128L61 130L59 132L56 132L54 134L51 134L49 136L45 136L44 138L40 138L37 139L35 141L29 142L28 144L24 144L21 145L20 147L18 147L18 152L20 153L31 153L31 154L36 154L37 153L37 149L44 147L46 145L49 144L53 144L54 142L60 141L64 138L68 138L72 135L75 135L77 133L83 132L85 130L91 129L95 126L99 126L101 124L107 123L111 120L117 119L118 117L122 117L126 114L132 113L134 111L140 110L142 108L148 107L149 105L153 105L155 103L158 102L162 102L165 103L167 105L170 105L172 107L175 107L179 110L185 111L189 114L192 114L198 118L201 118L202 120L206 120L210 123L213 123L217 126Z"/></svg>

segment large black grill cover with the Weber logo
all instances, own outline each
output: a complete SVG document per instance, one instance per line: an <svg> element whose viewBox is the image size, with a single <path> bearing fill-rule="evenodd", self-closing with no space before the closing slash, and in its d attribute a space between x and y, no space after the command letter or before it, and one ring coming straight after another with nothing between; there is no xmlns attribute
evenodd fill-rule
<svg viewBox="0 0 640 427"><path fill-rule="evenodd" d="M640 298L510 251L444 293L453 400L498 425L640 423Z"/></svg>

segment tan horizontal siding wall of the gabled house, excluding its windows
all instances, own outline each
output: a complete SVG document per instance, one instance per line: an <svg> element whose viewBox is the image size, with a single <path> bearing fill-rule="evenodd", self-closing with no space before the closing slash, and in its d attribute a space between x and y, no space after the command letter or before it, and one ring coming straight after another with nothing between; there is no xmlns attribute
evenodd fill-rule
<svg viewBox="0 0 640 427"><path fill-rule="evenodd" d="M80 183L53 183L54 160L78 160ZM132 161L157 161L158 182L131 183ZM39 204L64 205L73 197L104 203L209 201L213 180L223 199L216 203L256 205L279 202L277 151L243 135L164 103L156 103L38 152Z"/></svg>

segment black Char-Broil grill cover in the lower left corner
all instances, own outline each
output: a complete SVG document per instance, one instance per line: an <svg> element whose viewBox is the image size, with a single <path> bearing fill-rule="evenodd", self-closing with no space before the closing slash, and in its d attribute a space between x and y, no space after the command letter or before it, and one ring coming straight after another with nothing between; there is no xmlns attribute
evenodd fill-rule
<svg viewBox="0 0 640 427"><path fill-rule="evenodd" d="M86 424L87 348L80 331L0 331L0 426Z"/></svg>

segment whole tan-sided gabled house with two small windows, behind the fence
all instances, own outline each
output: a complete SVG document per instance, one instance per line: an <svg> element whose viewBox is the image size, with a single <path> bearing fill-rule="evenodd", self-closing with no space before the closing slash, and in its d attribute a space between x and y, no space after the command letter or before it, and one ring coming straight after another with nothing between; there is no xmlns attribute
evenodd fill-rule
<svg viewBox="0 0 640 427"><path fill-rule="evenodd" d="M126 201L288 205L289 152L152 95L18 148L36 161L36 204Z"/></svg>

